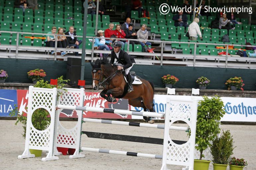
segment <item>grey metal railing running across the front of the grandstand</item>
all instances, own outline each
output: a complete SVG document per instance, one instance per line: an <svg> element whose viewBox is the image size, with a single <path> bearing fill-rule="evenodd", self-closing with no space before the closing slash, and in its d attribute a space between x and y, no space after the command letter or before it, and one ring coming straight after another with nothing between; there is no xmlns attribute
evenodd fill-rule
<svg viewBox="0 0 256 170"><path fill-rule="evenodd" d="M69 51L69 52L81 52L82 49L65 49L65 48L58 48L57 41L55 41L55 47L38 47L38 46L24 46L19 45L18 37L20 34L32 34L34 36L41 36L41 35L54 35L58 36L58 34L46 34L46 33L31 33L31 32L15 32L15 31L0 31L0 33L17 33L17 41L16 45L0 45L1 49L6 49L6 52L0 52L0 58L24 58L24 59L47 59L47 60L56 60L57 58L66 59L67 57L77 57L77 56L58 56L51 55L50 51ZM70 36L70 35L63 35L63 36ZM78 38L82 38L82 36L74 36ZM0 37L2 38L2 37ZM94 39L100 37L86 37L87 39L92 39L92 47L90 49L86 48L85 52L87 56L85 60L91 60L92 62L95 61L94 53L103 53L103 54L110 54L111 51L106 50L95 50L94 49ZM109 38L106 38L109 39ZM130 41L139 41L138 39L122 39L117 38L120 40L127 40L128 44ZM201 42L180 42L180 41L160 41L160 40L148 40L154 44L159 44L161 48L161 53L149 53L149 52L133 52L129 49L129 45L127 45L127 53L129 55L136 55L139 57L147 57L150 59L135 59L136 63L138 64L157 64L157 65L183 65L183 66L193 66L193 67L222 67L222 68L248 68L248 69L256 69L256 58L254 57L238 57L238 56L229 56L228 55L228 46L236 45L236 46L247 46L247 45L239 45L239 44L219 44L219 43L201 43ZM84 43L84 42L83 42ZM174 53L176 52L175 48L172 48L171 51L164 50L164 47L167 45L171 45L172 43L186 43L186 44L194 44L193 54L180 54ZM207 44L207 45L215 45L215 46L226 46L226 55L225 56L214 56L214 55L196 55L196 48L197 44ZM250 46L248 46L250 47ZM251 46L256 47L256 46ZM21 51L27 51L26 53ZM44 51L44 54L35 54L33 51ZM14 52L15 51L15 52ZM156 56L159 58L156 59ZM79 57L78 57L79 58Z"/></svg>

